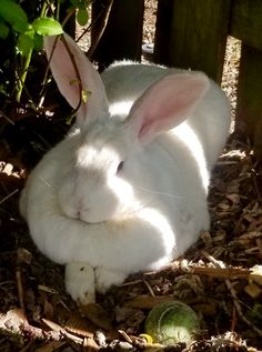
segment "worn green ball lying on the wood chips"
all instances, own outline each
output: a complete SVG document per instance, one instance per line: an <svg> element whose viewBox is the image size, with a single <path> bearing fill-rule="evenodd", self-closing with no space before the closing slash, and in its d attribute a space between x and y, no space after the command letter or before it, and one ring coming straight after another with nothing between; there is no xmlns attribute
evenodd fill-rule
<svg viewBox="0 0 262 352"><path fill-rule="evenodd" d="M179 342L189 344L199 330L200 322L196 313L179 301L158 304L145 320L147 334L151 335L154 342L163 345Z"/></svg>

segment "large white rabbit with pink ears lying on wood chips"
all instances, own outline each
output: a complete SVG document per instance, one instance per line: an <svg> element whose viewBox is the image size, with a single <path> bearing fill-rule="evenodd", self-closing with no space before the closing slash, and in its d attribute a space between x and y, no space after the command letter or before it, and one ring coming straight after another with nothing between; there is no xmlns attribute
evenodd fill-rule
<svg viewBox="0 0 262 352"><path fill-rule="evenodd" d="M200 72L123 61L102 82L64 38L91 95L69 135L31 172L20 209L37 247L66 264L67 290L84 304L130 273L168 264L209 229L210 171L230 107ZM48 57L53 42L44 39ZM75 108L79 84L61 41L51 70Z"/></svg>

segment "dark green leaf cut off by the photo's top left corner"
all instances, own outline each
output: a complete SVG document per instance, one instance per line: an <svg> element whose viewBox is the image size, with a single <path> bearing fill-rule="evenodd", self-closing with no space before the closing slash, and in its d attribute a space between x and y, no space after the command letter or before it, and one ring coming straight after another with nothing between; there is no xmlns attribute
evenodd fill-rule
<svg viewBox="0 0 262 352"><path fill-rule="evenodd" d="M16 2L10 0L0 1L0 17L12 28L22 33L28 28L28 17L23 9Z"/></svg>

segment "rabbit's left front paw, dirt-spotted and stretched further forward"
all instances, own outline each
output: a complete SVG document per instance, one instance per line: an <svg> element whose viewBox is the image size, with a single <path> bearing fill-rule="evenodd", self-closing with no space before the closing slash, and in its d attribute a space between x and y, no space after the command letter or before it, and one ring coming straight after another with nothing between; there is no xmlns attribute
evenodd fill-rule
<svg viewBox="0 0 262 352"><path fill-rule="evenodd" d="M94 272L85 262L71 262L66 266L66 286L74 301L85 305L95 302Z"/></svg>

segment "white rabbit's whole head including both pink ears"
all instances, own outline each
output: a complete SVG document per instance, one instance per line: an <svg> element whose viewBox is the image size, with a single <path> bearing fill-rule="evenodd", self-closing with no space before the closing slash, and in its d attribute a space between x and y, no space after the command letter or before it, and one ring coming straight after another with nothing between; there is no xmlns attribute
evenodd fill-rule
<svg viewBox="0 0 262 352"><path fill-rule="evenodd" d="M167 76L131 104L123 95L110 105L99 73L70 37L64 40L69 50L60 40L52 49L54 37L44 39L57 84L73 108L81 99L81 87L90 97L78 111L80 133L72 143L72 165L58 178L59 204L68 217L88 223L128 217L141 207L131 181L141 172L134 160L143 163L139 155L144 147L184 121L209 90L209 79L201 73Z"/></svg>

